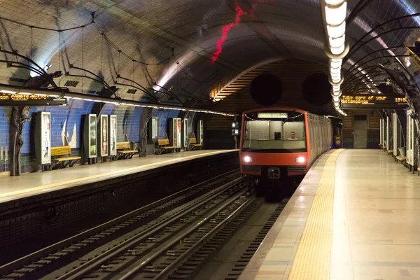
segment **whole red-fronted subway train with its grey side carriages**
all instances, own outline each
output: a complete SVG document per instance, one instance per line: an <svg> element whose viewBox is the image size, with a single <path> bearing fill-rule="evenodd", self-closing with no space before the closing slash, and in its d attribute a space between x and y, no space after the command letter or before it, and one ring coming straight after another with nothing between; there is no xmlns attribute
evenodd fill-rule
<svg viewBox="0 0 420 280"><path fill-rule="evenodd" d="M332 148L332 120L295 108L245 111L239 145L241 174L257 193L294 192L312 163Z"/></svg>

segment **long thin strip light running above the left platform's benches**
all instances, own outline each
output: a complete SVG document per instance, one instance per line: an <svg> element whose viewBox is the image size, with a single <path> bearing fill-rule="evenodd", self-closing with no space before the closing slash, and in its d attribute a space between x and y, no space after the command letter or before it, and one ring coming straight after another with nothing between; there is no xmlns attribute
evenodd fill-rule
<svg viewBox="0 0 420 280"><path fill-rule="evenodd" d="M13 85L4 85L0 84L0 92L7 93L7 94L24 94L24 95L37 95L37 96L48 96L48 97L55 97L55 98L66 98L66 99L76 99L76 100L84 100L89 102L102 102L106 104L115 104L117 106L135 106L135 107L144 107L144 108L151 108L151 109L167 109L167 110L176 110L176 111L189 111L195 113L211 113L214 115L221 115L221 116L228 116L234 117L239 116L237 114L232 113L225 113L220 111L212 111L212 110L200 110L200 109L192 109L188 107L181 107L181 106L171 106L171 105L161 105L161 104L154 104L154 103L146 103L146 102L137 102L127 99L115 99L110 97L99 97L90 94L82 94L78 92L60 92L58 90L29 90L25 87L15 87ZM0 103L1 104L1 103Z"/></svg>

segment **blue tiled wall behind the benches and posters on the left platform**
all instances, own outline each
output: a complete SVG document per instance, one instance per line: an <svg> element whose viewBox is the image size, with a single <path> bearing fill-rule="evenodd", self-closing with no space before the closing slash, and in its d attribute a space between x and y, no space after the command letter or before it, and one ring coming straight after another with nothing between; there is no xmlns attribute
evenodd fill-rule
<svg viewBox="0 0 420 280"><path fill-rule="evenodd" d="M11 107L0 107L0 172L7 172L9 151L9 123L11 116ZM80 155L83 141L83 116L89 113L99 114L102 111L104 115L116 115L118 118L117 134L118 141L124 141L124 135L127 134L130 141L139 141L139 128L141 126L141 113L143 108L134 106L116 106L114 104L105 104L94 106L94 102L83 100L69 100L69 106L63 107L32 107L29 116L33 117L29 123L25 123L22 132L22 172L36 172L40 169L36 165L34 151L34 128L36 113L46 111L51 113L51 142L52 147L63 146L64 136L69 139L73 155ZM169 118L177 118L179 111L174 110L155 110L153 116L159 118L159 137L165 138L165 132L168 132ZM190 115L188 121L188 131L195 131L197 120Z"/></svg>

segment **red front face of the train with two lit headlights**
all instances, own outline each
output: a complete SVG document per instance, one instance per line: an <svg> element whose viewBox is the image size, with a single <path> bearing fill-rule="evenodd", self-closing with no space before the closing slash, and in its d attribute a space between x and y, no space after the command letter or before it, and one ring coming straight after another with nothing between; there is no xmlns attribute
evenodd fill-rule
<svg viewBox="0 0 420 280"><path fill-rule="evenodd" d="M260 186L277 187L303 178L309 167L307 113L264 109L242 114L241 174Z"/></svg>

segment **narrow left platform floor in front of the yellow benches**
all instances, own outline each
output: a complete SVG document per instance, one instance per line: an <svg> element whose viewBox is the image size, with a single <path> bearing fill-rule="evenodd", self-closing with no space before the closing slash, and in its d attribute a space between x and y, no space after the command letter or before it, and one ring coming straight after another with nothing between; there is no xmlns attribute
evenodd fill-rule
<svg viewBox="0 0 420 280"><path fill-rule="evenodd" d="M168 153L164 155L134 156L128 160L78 165L71 168L47 172L22 174L22 176L0 178L0 209L6 202L20 200L40 194L64 190L80 185L104 182L130 174L139 174L169 165L197 160L238 150L202 150ZM99 185L99 184L97 184Z"/></svg>

